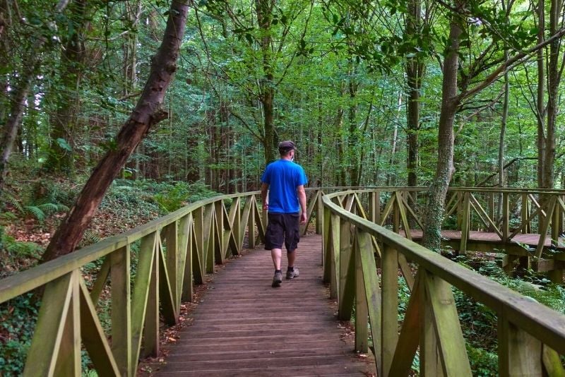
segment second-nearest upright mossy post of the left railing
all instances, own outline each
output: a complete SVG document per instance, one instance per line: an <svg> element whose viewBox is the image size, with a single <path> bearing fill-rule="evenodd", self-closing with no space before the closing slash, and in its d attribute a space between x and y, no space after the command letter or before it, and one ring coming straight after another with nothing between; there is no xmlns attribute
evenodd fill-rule
<svg viewBox="0 0 565 377"><path fill-rule="evenodd" d="M131 365L131 292L129 245L111 254L112 282L112 353L119 371L129 376Z"/></svg>

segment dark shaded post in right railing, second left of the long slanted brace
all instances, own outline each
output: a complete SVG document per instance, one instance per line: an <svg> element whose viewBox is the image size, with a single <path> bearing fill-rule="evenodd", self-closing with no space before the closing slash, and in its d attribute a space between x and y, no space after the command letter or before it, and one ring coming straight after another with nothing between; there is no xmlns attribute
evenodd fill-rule
<svg viewBox="0 0 565 377"><path fill-rule="evenodd" d="M340 276L339 276L339 313L341 321L351 319L353 299L355 299L355 261L352 253L350 222L340 220Z"/></svg>

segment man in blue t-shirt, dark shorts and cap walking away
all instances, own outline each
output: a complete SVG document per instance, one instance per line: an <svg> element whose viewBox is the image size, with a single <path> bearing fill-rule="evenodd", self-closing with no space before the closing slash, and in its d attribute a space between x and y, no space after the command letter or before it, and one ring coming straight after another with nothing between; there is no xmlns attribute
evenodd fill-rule
<svg viewBox="0 0 565 377"><path fill-rule="evenodd" d="M273 287L280 287L283 282L283 271L280 270L283 242L288 258L286 277L298 277L298 268L295 267L296 248L300 239L299 223L306 223L304 185L308 183L304 169L294 162L295 143L283 141L279 143L278 151L280 160L268 164L261 177L263 210L268 210L265 250L270 250L275 265Z"/></svg>

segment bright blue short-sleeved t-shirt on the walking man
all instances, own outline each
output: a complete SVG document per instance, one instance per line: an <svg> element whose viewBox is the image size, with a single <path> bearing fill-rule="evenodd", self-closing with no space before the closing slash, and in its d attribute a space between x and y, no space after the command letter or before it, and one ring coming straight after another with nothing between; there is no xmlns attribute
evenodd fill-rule
<svg viewBox="0 0 565 377"><path fill-rule="evenodd" d="M261 182L269 185L269 212L299 213L297 187L308 183L304 169L289 160L278 160L267 165Z"/></svg>

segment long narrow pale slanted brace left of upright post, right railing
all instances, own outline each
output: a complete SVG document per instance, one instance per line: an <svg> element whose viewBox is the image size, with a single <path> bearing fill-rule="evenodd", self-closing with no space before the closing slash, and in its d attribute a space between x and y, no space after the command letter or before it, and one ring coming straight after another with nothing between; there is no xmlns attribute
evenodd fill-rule
<svg viewBox="0 0 565 377"><path fill-rule="evenodd" d="M381 339L381 289L379 289L379 277L376 275L371 237L368 233L357 229L356 239L359 242L359 254L361 256L365 294L367 296L367 309L371 323L371 337L373 340L379 340ZM373 345L376 368L379 371L379 376L382 376L382 345L379 341L374 341Z"/></svg>

